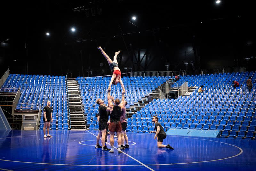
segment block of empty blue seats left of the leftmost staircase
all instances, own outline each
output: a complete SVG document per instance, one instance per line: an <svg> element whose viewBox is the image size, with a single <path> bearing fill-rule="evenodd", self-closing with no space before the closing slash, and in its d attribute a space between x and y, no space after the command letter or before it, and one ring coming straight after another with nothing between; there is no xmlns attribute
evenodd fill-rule
<svg viewBox="0 0 256 171"><path fill-rule="evenodd" d="M20 99L16 110L39 110L51 101L53 122L51 129L68 130L68 105L65 76L10 74L1 88L18 89ZM0 91L2 91L0 88ZM5 89L3 89L5 90ZM64 119L65 118L65 119ZM43 129L43 112L40 129ZM57 126L56 126L57 125Z"/></svg>

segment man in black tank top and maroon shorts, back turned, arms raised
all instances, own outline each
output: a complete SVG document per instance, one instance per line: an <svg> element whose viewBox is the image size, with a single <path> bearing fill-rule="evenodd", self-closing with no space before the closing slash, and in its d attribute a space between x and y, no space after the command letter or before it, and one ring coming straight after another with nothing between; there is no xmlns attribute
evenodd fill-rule
<svg viewBox="0 0 256 171"><path fill-rule="evenodd" d="M124 94L125 92L122 91L122 102L120 103L119 99L115 100L115 105L113 105L111 96L110 96L111 89L108 88L108 108L107 111L110 113L110 123L108 126L109 132L110 132L110 145L111 150L109 152L114 152L114 133L116 132L117 135L117 143L118 143L118 152L122 153L121 151L121 131L122 131L122 125L120 122L120 116L121 109L124 106Z"/></svg>

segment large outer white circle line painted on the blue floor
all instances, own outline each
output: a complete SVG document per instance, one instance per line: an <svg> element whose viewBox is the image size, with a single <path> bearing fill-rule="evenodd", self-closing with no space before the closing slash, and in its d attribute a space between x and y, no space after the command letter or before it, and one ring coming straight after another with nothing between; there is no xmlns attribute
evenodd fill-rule
<svg viewBox="0 0 256 171"><path fill-rule="evenodd" d="M87 131L87 130L86 130ZM89 132L89 131L87 131ZM90 134L92 134L91 132L89 132ZM73 133L73 134L87 134L87 133ZM58 134L52 134L52 135L58 135ZM61 134L59 134L61 135ZM94 134L92 134L94 135ZM150 134L138 134L138 135L150 135ZM34 135L29 135L29 136L34 136ZM95 135L94 135L95 136ZM17 136L17 137L24 137L24 136ZM179 136L168 136L168 137L177 137L177 138L191 138L191 137L179 137ZM15 138L15 137L7 137L7 138ZM0 138L1 139L1 138ZM213 140L208 140L208 139L201 139L201 138L191 138L191 139L200 139L200 140L205 140L205 141L213 141ZM217 143L223 143L220 141L213 141L213 142L217 142ZM228 143L223 143L223 144L227 144L227 145L232 145L232 144L228 144ZM238 148L240 150L240 153L231 156L231 157L227 157L227 158L223 158L223 159L217 159L217 160L208 160L208 161L196 161L196 162L188 162L188 163L169 163L169 164L148 164L147 166L161 166L161 165L179 165L179 164L192 164L192 163L204 163L204 162L211 162L211 161L218 161L218 160L225 160L225 159L230 159L236 156L239 156L240 154L243 153L243 150L240 147L237 147L236 145L232 145L236 148ZM0 159L0 161L10 161L10 162L17 162L17 163L30 163L30 164L44 164L44 165L60 165L60 166L141 166L141 165L74 165L74 164L53 164L53 163L36 163L36 162L25 162L25 161L13 161L13 160L3 160Z"/></svg>

